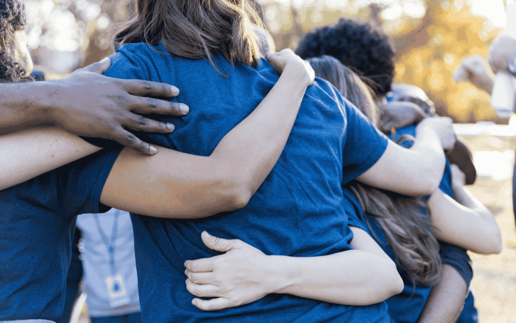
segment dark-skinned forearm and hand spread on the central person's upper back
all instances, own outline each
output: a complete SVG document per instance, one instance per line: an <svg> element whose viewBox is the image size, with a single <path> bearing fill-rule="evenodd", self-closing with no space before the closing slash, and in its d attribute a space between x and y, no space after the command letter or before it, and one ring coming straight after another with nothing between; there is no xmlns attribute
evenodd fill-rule
<svg viewBox="0 0 516 323"><path fill-rule="evenodd" d="M152 155L156 152L154 147L124 128L170 133L174 127L134 113L182 116L188 113L188 107L141 97L171 98L179 90L168 84L101 75L110 65L109 58L105 58L62 80L0 84L0 133L50 123L76 135L115 140Z"/></svg>

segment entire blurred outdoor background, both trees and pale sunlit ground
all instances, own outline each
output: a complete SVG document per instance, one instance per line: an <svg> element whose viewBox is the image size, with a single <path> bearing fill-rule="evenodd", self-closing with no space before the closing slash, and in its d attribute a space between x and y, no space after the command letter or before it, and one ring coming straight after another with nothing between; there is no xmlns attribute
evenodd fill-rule
<svg viewBox="0 0 516 323"><path fill-rule="evenodd" d="M367 20L391 36L397 51L396 83L421 87L438 114L473 124L496 118L490 97L451 73L463 57L486 56L506 23L504 0L257 0L277 50L296 47L309 29L340 17ZM131 17L132 0L26 0L28 45L47 79L112 53L110 31ZM495 214L504 250L472 254L481 322L516 322L516 235L510 178L516 147L516 116L510 126L458 125L474 152L478 179L472 192ZM464 127L460 127L464 126ZM84 315L83 311L83 315ZM86 322L87 315L80 321Z"/></svg>

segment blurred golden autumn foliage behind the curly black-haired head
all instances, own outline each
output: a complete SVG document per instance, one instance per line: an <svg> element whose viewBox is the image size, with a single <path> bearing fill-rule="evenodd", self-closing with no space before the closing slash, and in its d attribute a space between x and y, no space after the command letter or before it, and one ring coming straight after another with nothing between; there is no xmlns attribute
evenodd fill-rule
<svg viewBox="0 0 516 323"><path fill-rule="evenodd" d="M487 54L500 30L471 12L466 0L263 0L265 18L277 49L296 47L308 30L340 17L368 20L392 37L396 82L421 87L440 115L459 122L496 118L489 96L470 84L457 84L451 73L463 57Z"/></svg>

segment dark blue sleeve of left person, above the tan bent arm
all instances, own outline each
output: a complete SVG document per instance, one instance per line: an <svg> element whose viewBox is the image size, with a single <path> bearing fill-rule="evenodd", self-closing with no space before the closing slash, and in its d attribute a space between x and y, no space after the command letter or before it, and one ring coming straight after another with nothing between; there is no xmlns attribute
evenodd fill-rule
<svg viewBox="0 0 516 323"><path fill-rule="evenodd" d="M73 218L77 214L109 210L109 207L100 204L100 195L120 151L122 147L105 148L55 171L56 197L62 214Z"/></svg>

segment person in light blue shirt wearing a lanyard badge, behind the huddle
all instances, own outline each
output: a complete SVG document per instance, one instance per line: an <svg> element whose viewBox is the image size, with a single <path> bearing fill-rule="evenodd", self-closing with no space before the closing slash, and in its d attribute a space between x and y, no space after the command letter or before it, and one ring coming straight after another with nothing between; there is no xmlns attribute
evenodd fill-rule
<svg viewBox="0 0 516 323"><path fill-rule="evenodd" d="M81 214L83 291L91 323L141 323L134 236L128 212Z"/></svg>

